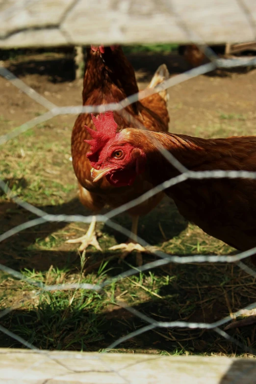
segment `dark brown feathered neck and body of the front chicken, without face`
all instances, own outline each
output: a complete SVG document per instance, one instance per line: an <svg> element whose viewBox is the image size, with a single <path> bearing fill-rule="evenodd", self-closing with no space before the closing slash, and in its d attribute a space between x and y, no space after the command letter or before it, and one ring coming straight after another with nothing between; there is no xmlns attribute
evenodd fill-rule
<svg viewBox="0 0 256 384"><path fill-rule="evenodd" d="M139 131L131 136L129 129L122 136L145 152L143 177L153 185L180 173L163 157L155 140L191 171L256 171L255 136L201 139ZM241 251L256 247L255 179L187 179L165 193L175 201L182 216L211 236Z"/></svg>

